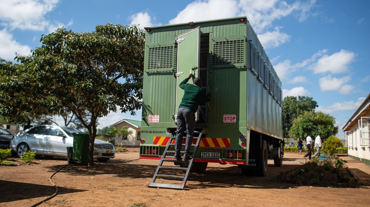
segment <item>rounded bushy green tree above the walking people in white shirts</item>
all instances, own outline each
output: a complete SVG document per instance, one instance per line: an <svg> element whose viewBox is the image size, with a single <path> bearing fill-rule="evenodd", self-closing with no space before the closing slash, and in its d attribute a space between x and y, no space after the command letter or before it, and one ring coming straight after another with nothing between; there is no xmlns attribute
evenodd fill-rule
<svg viewBox="0 0 370 207"><path fill-rule="evenodd" d="M313 138L320 132L321 140L324 141L330 136L338 133L338 126L334 126L335 118L323 112L305 112L293 121L289 133L296 138L305 138L307 133L312 133Z"/></svg>

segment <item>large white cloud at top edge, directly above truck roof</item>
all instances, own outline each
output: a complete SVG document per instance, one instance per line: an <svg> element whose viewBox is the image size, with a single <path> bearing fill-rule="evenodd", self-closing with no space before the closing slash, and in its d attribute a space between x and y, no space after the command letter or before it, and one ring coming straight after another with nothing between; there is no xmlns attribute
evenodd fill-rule
<svg viewBox="0 0 370 207"><path fill-rule="evenodd" d="M293 11L300 11L299 21L306 20L315 2L296 1L288 4L279 0L198 0L188 4L169 24L246 16L255 32L262 33L272 26L274 20L286 17Z"/></svg>

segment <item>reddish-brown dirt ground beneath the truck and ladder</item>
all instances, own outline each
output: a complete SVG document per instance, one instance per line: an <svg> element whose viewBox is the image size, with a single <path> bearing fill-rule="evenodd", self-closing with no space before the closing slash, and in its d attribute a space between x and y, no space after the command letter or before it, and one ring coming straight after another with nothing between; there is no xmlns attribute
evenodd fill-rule
<svg viewBox="0 0 370 207"><path fill-rule="evenodd" d="M40 206L364 206L369 204L366 187L320 187L277 183L305 160L298 153L285 153L283 166L268 162L268 176L245 176L236 165L209 163L205 173L192 173L189 190L147 187L158 160L138 159L138 149L129 148L94 168L68 165L53 182L60 192ZM37 157L33 164L0 166L0 205L31 206L52 195L50 175L67 164L65 158ZM20 164L20 165L18 165ZM307 203L307 197L313 200Z"/></svg>

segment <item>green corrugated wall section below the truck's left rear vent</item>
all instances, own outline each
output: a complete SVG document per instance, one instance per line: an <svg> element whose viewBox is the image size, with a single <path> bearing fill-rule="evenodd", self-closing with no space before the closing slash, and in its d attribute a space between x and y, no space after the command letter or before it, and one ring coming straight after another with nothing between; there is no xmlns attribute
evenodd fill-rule
<svg viewBox="0 0 370 207"><path fill-rule="evenodd" d="M148 115L159 115L159 122L173 122L175 111L174 73L148 73L145 77L148 85L144 85L147 97L143 99L143 118Z"/></svg>

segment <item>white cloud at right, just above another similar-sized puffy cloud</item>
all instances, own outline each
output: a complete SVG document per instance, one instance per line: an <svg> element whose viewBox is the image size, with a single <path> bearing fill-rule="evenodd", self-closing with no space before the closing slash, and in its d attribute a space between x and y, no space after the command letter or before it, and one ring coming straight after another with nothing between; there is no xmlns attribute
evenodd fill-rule
<svg viewBox="0 0 370 207"><path fill-rule="evenodd" d="M354 61L354 52L341 49L333 55L324 55L310 69L318 73L344 73L348 71L349 64Z"/></svg>

